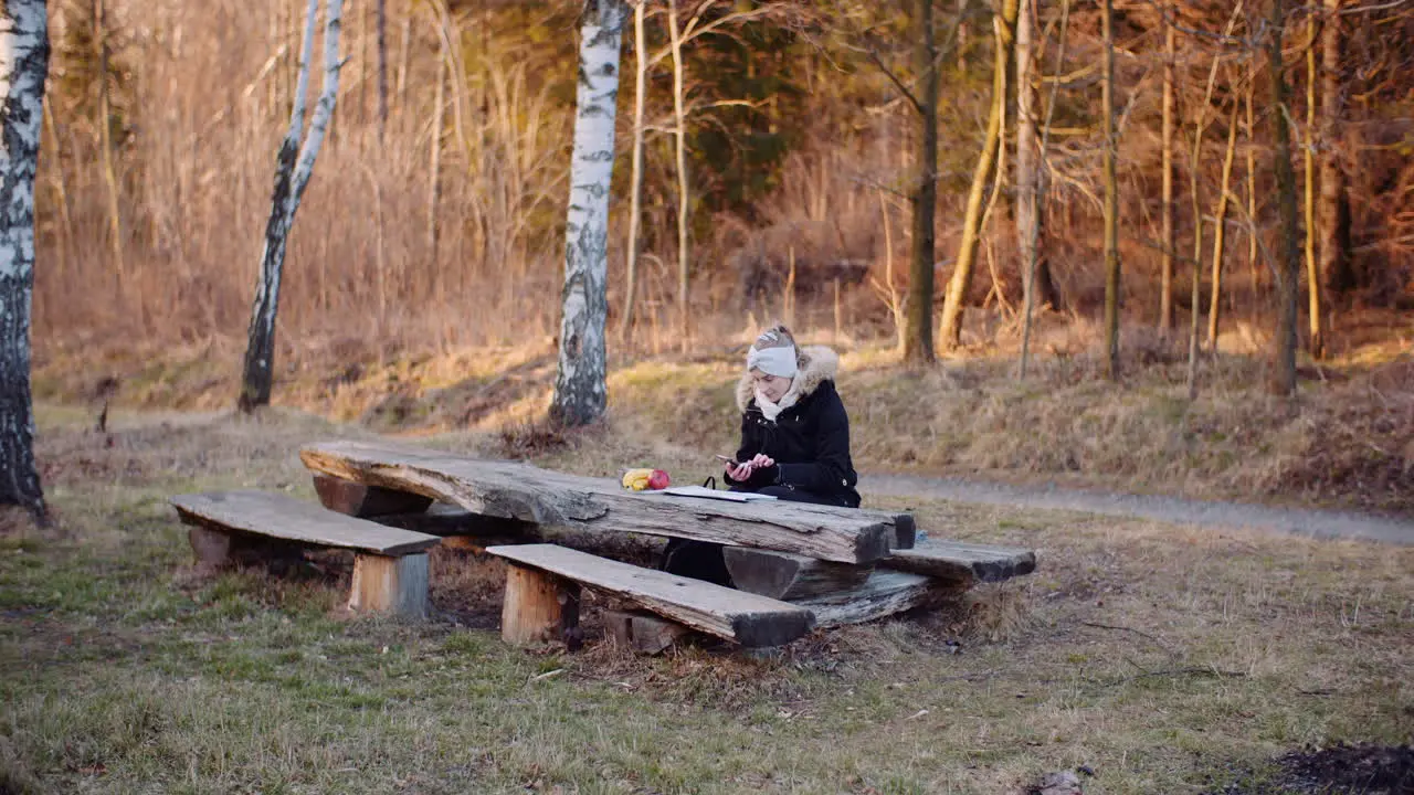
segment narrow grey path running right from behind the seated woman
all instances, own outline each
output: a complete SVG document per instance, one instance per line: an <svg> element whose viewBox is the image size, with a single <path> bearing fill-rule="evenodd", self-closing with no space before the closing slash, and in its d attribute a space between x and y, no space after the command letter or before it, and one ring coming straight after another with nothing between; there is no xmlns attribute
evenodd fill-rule
<svg viewBox="0 0 1414 795"><path fill-rule="evenodd" d="M1208 502L1181 497L1114 494L1055 485L1012 485L921 475L867 475L860 491L891 497L929 497L1104 516L1137 516L1202 528L1253 528L1326 539L1365 539L1414 545L1414 521L1350 511L1273 508L1246 502Z"/></svg>

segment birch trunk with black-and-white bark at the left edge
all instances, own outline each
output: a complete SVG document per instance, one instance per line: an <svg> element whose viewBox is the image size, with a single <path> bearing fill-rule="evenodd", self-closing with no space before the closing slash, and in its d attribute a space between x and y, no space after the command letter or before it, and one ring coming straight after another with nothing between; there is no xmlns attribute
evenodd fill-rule
<svg viewBox="0 0 1414 795"><path fill-rule="evenodd" d="M34 291L34 175L40 166L44 79L49 71L44 0L0 8L0 505L44 519L34 465L30 303Z"/></svg>

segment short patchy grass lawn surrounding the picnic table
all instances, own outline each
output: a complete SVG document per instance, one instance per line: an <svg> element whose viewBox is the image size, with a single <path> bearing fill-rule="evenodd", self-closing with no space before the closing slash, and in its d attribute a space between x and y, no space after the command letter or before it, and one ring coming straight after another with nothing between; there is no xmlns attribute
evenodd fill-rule
<svg viewBox="0 0 1414 795"><path fill-rule="evenodd" d="M1278 792L1284 751L1414 741L1414 549L896 499L1038 571L779 655L635 656L592 618L584 651L527 652L496 632L498 564L465 552L434 553L420 625L345 614L338 556L191 573L167 497L312 499L298 446L366 430L276 410L41 431L57 522L0 529L0 792L995 794L1079 765L1087 792ZM703 467L633 439L537 463Z"/></svg>

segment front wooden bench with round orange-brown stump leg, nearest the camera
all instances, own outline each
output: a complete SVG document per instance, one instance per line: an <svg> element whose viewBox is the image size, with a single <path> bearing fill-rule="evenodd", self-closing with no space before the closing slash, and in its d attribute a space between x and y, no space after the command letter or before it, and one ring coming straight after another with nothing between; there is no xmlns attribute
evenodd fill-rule
<svg viewBox="0 0 1414 795"><path fill-rule="evenodd" d="M581 584L742 646L788 644L814 624L803 607L553 543L492 546L486 552L510 563L501 634L516 645L571 632L578 624Z"/></svg>

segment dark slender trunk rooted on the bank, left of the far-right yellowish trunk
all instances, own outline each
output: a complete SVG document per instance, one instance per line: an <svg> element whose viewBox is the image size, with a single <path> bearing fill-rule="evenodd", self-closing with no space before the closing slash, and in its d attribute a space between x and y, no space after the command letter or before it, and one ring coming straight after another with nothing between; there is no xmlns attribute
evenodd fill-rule
<svg viewBox="0 0 1414 795"><path fill-rule="evenodd" d="M1297 174L1291 168L1291 108L1281 61L1281 38L1287 21L1284 0L1271 3L1271 38L1267 57L1271 68L1271 100L1275 106L1271 126L1277 141L1277 209L1281 242L1275 263L1277 332L1271 337L1271 392L1292 395L1297 390L1297 297L1301 291L1301 242L1297 228Z"/></svg>

